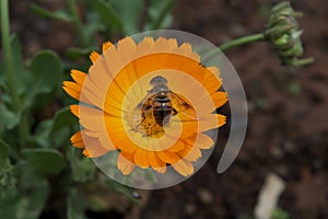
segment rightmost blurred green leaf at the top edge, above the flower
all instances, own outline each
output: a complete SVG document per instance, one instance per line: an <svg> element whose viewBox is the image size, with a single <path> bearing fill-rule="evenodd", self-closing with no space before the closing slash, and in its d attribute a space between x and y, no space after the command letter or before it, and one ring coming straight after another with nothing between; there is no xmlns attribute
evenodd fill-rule
<svg viewBox="0 0 328 219"><path fill-rule="evenodd" d="M172 23L172 10L175 0L152 0L148 10L148 22L144 25L145 31L167 28Z"/></svg>

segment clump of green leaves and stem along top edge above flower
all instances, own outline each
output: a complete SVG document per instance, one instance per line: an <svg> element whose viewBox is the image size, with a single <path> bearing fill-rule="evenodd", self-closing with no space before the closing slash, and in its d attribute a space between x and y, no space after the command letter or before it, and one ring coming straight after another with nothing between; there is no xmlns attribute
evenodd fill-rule
<svg viewBox="0 0 328 219"><path fill-rule="evenodd" d="M71 59L86 57L96 45L96 36L104 41L113 36L126 36L141 31L167 28L172 23L172 10L176 0L93 0L86 1L84 14L77 13L75 0L69 0L67 9L49 11L32 4L34 13L42 18L73 23L80 39L80 48L68 48ZM82 4L82 2L79 2Z"/></svg>

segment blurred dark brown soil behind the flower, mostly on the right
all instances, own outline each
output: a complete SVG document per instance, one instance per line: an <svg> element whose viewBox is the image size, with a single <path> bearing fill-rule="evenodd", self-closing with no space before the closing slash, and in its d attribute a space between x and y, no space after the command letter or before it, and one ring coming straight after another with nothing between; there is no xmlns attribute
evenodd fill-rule
<svg viewBox="0 0 328 219"><path fill-rule="evenodd" d="M31 57L44 48L62 55L73 44L70 30L56 22L49 26L46 20L34 23L24 19L25 14L35 18L24 7L26 2L12 9L12 30L21 36L25 55ZM172 28L215 45L256 33L267 22L263 11L268 1L245 2L179 0ZM233 165L222 174L215 171L225 127L209 162L192 177L153 191L143 196L143 206L112 218L249 218L269 173L286 184L278 205L291 218L328 218L328 4L325 0L292 2L304 13L298 22L304 30L305 56L313 56L315 64L291 74L266 43L225 53L243 81L249 111L247 136ZM90 214L90 218L102 217Z"/></svg>

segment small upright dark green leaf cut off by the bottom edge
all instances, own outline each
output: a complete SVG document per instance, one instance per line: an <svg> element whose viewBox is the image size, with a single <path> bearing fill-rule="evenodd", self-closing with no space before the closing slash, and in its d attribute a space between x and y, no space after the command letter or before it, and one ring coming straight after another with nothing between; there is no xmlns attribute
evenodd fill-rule
<svg viewBox="0 0 328 219"><path fill-rule="evenodd" d="M77 189L70 189L67 197L67 218L68 219L86 219L84 216L85 200Z"/></svg>

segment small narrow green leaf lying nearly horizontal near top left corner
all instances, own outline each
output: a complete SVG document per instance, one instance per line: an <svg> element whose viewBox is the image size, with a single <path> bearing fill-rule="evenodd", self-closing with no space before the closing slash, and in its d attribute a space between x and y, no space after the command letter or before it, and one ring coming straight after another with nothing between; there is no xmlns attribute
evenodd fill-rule
<svg viewBox="0 0 328 219"><path fill-rule="evenodd" d="M39 16L48 18L48 19L56 19L65 22L72 22L73 18L66 12L65 10L58 10L58 11L48 11L37 4L31 4L31 9L34 13L36 13Z"/></svg>

